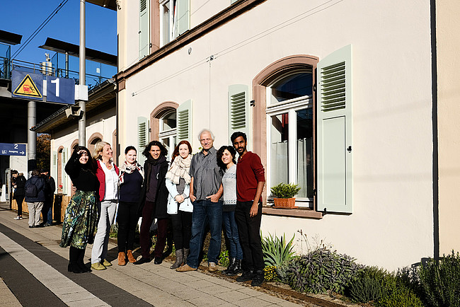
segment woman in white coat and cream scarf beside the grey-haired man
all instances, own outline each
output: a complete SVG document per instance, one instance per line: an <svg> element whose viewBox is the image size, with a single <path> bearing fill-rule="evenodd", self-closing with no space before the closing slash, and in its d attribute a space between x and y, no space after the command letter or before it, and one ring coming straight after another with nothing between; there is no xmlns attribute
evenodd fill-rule
<svg viewBox="0 0 460 307"><path fill-rule="evenodd" d="M166 187L169 191L168 214L173 224L173 238L176 246L176 269L187 260L192 236L192 211L190 202L190 162L192 146L188 141L180 141L173 151L171 168L166 173Z"/></svg>

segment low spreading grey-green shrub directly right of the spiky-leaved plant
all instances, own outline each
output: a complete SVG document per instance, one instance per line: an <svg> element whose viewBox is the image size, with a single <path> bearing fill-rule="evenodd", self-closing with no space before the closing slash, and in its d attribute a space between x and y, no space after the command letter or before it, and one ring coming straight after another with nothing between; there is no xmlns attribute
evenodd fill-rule
<svg viewBox="0 0 460 307"><path fill-rule="evenodd" d="M301 292L318 294L330 290L343 294L345 286L361 271L362 266L352 257L319 248L290 263L287 282Z"/></svg>

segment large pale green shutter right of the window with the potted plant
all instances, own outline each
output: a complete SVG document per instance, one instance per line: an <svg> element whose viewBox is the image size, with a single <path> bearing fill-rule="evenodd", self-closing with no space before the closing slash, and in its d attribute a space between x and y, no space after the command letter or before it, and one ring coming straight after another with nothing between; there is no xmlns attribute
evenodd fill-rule
<svg viewBox="0 0 460 307"><path fill-rule="evenodd" d="M352 46L318 62L318 211L352 213Z"/></svg>

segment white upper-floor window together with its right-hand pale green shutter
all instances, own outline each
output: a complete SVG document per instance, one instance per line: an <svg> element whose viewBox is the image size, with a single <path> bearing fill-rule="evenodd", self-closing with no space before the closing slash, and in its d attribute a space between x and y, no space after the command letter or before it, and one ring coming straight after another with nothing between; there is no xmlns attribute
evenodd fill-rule
<svg viewBox="0 0 460 307"><path fill-rule="evenodd" d="M161 0L160 44L168 44L190 29L190 0Z"/></svg>

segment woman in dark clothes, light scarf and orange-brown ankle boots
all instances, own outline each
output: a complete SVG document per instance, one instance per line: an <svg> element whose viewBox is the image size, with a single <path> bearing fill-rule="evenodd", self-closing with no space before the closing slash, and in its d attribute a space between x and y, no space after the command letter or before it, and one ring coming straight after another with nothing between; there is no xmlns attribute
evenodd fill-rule
<svg viewBox="0 0 460 307"><path fill-rule="evenodd" d="M137 209L144 168L137 162L137 151L134 146L125 149L125 162L120 166L120 197L118 204L118 265L126 265L126 258L134 263L134 234L136 231Z"/></svg>

